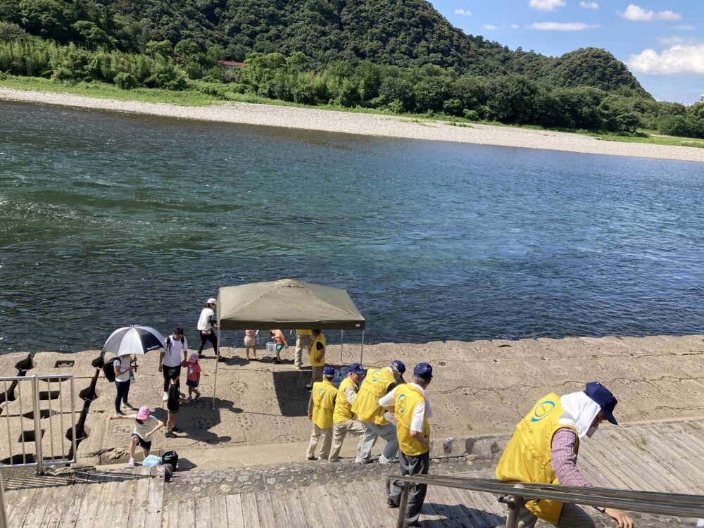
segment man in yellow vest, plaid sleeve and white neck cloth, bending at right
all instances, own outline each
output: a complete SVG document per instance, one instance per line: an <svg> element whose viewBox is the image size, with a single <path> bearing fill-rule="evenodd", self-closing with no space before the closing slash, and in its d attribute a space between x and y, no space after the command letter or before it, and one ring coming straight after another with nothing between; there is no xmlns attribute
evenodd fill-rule
<svg viewBox="0 0 704 528"><path fill-rule="evenodd" d="M617 399L601 383L586 384L584 391L541 398L516 426L496 467L504 481L591 486L577 469L579 442L596 432L603 420L618 425L613 415ZM633 528L622 510L597 508L618 523ZM538 519L558 528L593 528L591 516L574 504L528 501L519 513L519 528L532 528Z"/></svg>

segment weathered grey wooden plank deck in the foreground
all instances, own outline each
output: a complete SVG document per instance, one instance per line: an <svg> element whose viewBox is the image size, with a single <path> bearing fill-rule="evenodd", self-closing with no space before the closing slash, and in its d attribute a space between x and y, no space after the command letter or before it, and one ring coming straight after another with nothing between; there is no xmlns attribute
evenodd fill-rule
<svg viewBox="0 0 704 528"><path fill-rule="evenodd" d="M704 494L704 422L607 427L583 443L579 466L605 487ZM153 472L153 470L152 470ZM66 477L8 479L8 521L20 527L393 527L384 482L309 486L164 501L163 481L148 469L96 472L67 486ZM189 472L178 473L189 478ZM493 477L493 471L473 472ZM80 475L79 475L80 477ZM594 511L595 517L606 520ZM430 487L424 527L489 528L505 524L494 496ZM601 521L600 521L601 522ZM636 524L693 527L696 520L642 515ZM601 524L598 524L601 525ZM606 524L612 526L613 524Z"/></svg>

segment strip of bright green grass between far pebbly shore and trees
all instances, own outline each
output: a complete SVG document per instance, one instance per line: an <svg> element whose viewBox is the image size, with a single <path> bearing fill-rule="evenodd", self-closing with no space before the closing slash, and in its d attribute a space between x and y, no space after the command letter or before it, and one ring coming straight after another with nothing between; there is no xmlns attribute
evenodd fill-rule
<svg viewBox="0 0 704 528"><path fill-rule="evenodd" d="M14 75L4 75L0 79L0 87L6 87L19 90L34 90L36 92L51 92L56 94L71 94L84 97L92 97L96 99L113 99L116 101L141 101L146 103L170 103L178 106L206 106L210 104L222 104L227 102L242 102L242 103L260 103L273 104L279 106L296 106L299 108L315 108L325 110L335 110L350 113L369 113L375 115L391 115L398 117L403 122L414 122L420 125L431 124L432 122L444 122L448 125L459 127L471 127L470 120L463 118L454 118L446 115L414 115L414 114L395 114L386 110L375 110L370 108L347 108L344 106L310 106L298 103L289 103L286 101L278 101L275 99L265 99L263 97L254 96L251 94L239 94L237 92L223 92L222 87L227 85L212 84L212 87L217 87L218 94L208 93L211 87L210 83L194 82L194 87L185 89L181 92L171 90L163 90L156 88L136 88L132 90L123 90L115 86L115 84L106 84L103 82L79 82L76 84L57 84L49 79L41 77L18 77ZM481 122L484 125L498 125L508 128L529 128L534 130L551 130L534 125L520 127L517 125L505 125L499 122ZM693 139L691 137L674 137L662 136L651 130L643 130L642 134L645 137L623 136L617 134L601 134L587 130L556 130L557 132L567 132L572 134L586 134L602 141L611 142L627 142L627 143L645 143L658 145L674 145L674 146L693 146L704 148L704 139Z"/></svg>

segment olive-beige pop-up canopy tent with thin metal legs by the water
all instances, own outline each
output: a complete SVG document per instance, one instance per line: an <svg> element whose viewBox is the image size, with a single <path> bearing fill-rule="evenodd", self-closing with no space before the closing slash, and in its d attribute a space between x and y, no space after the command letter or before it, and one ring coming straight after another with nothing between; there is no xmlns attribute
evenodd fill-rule
<svg viewBox="0 0 704 528"><path fill-rule="evenodd" d="M364 352L364 326L362 314L344 289L295 279L282 279L222 287L218 291L219 332L261 327L361 330L361 363ZM215 363L213 407L219 363Z"/></svg>

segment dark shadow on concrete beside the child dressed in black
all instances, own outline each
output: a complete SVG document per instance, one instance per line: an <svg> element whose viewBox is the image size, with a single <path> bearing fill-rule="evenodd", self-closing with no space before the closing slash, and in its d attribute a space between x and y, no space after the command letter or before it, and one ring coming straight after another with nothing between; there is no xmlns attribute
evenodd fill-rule
<svg viewBox="0 0 704 528"><path fill-rule="evenodd" d="M183 430L178 436L203 442L205 444L225 444L232 440L230 436L218 436L210 431L222 421L222 413L241 413L240 408L234 407L232 401L215 398L215 408L213 409L213 398L201 396L201 398L184 403L179 410L176 427ZM167 413L163 408L153 410L153 415L166 423Z"/></svg>

